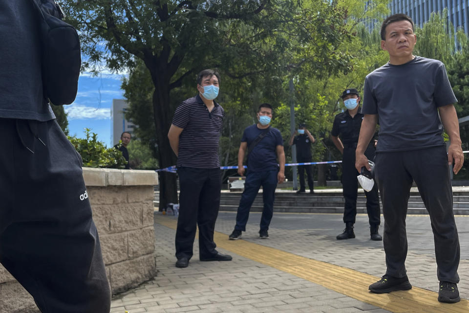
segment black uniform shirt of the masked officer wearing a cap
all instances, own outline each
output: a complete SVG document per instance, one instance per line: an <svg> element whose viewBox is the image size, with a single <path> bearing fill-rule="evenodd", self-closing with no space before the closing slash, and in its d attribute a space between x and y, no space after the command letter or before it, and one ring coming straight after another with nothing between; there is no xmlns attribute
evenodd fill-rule
<svg viewBox="0 0 469 313"><path fill-rule="evenodd" d="M358 109L357 114L353 118L348 113L348 110L337 114L334 118L331 135L337 137L340 134L344 145L357 143L363 116L361 109Z"/></svg>

